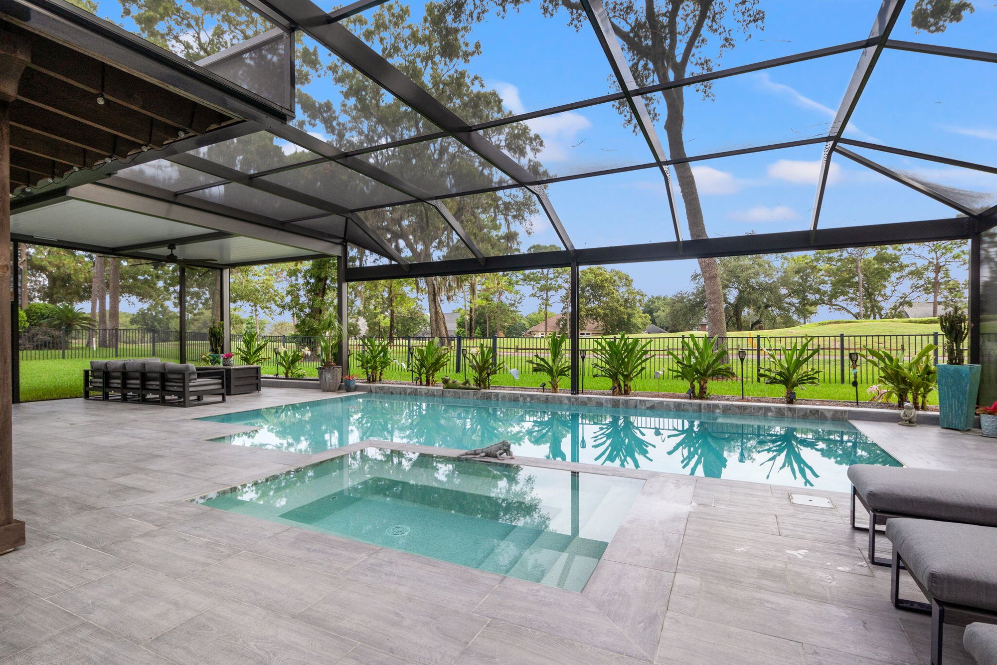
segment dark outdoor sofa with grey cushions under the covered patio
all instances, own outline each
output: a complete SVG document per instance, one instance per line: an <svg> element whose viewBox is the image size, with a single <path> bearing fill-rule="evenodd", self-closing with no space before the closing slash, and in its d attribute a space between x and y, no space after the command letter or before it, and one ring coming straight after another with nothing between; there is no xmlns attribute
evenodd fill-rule
<svg viewBox="0 0 997 665"><path fill-rule="evenodd" d="M157 357L134 360L91 360L83 370L85 399L115 399L169 406L212 403L205 395L225 401L225 372L192 363L165 362Z"/></svg>

